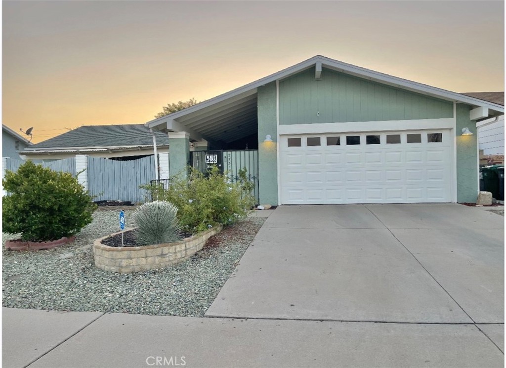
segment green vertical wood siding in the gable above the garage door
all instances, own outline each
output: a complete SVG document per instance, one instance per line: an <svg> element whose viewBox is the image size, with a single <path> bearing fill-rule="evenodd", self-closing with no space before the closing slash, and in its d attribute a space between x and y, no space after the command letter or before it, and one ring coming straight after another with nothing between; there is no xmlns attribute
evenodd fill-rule
<svg viewBox="0 0 506 368"><path fill-rule="evenodd" d="M279 82L280 124L451 117L452 102L325 68L320 80L315 80L314 68L310 68Z"/></svg>

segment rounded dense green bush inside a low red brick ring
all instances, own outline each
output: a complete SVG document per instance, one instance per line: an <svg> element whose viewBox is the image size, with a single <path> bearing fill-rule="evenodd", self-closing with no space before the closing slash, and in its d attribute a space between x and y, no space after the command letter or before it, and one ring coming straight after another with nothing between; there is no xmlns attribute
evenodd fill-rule
<svg viewBox="0 0 506 368"><path fill-rule="evenodd" d="M27 161L16 173L7 171L2 203L2 226L21 233L25 241L57 240L77 234L92 222L97 208L81 184L69 173L56 172Z"/></svg>

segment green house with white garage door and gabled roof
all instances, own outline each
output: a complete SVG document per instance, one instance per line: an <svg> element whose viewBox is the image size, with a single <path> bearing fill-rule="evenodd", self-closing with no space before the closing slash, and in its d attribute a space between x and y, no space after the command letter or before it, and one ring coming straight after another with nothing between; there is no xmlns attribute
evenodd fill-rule
<svg viewBox="0 0 506 368"><path fill-rule="evenodd" d="M501 115L498 103L315 56L146 126L168 134L171 176L191 141L254 143L262 204L475 202L476 124Z"/></svg>

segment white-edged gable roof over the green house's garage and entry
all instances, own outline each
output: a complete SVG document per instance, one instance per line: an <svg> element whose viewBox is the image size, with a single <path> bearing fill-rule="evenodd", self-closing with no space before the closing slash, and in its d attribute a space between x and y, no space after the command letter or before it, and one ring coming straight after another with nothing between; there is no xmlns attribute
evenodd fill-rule
<svg viewBox="0 0 506 368"><path fill-rule="evenodd" d="M258 87L261 87L267 83L274 82L276 80L287 78L293 74L299 73L303 70L309 69L314 66L317 67L325 67L331 70L335 70L338 72L354 75L359 78L365 78L368 80L376 81L379 83L384 83L387 85L391 85L394 87L410 90L416 93L426 94L429 96L445 99L448 101L454 101L454 102L463 102L470 104L472 106L483 106L491 111L493 111L494 115L502 115L504 114L504 106L501 106L500 104L486 101L480 98L468 96L465 94L457 93L448 91L442 88L437 88L433 86L429 86L427 84L413 82L407 79L394 77L385 73L376 72L370 69L358 67L356 65L348 64L341 62L339 60L330 59L321 55L316 55L308 60L305 60L299 64L293 65L291 67L288 67L286 69L283 69L279 72L276 72L274 74L271 74L267 77L261 78L259 80L256 80L254 82L248 83L242 87L233 89L229 92L220 94L219 96L210 98L208 100L202 101L200 103L195 104L194 106L191 106L189 108L186 108L184 110L175 112L170 115L166 115L161 118L157 118L154 120L151 120L146 123L146 126L150 128L157 127L162 124L167 124L167 129L171 130L173 127L170 126L173 124L174 119L178 119L180 117L183 117L185 115L197 112L199 110L208 108L210 106L213 106L216 103L223 102L228 99L233 98L239 98L240 96L247 97L248 95L251 95L252 93L256 92L256 89ZM175 125L177 126L177 124ZM174 129L177 131L176 129Z"/></svg>

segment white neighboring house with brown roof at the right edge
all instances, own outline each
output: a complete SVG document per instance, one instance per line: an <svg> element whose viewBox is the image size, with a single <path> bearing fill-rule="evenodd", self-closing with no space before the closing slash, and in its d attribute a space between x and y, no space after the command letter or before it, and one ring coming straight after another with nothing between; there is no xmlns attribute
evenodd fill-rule
<svg viewBox="0 0 506 368"><path fill-rule="evenodd" d="M504 106L504 92L466 92L468 96ZM485 156L504 155L504 115L477 123L478 144Z"/></svg>

